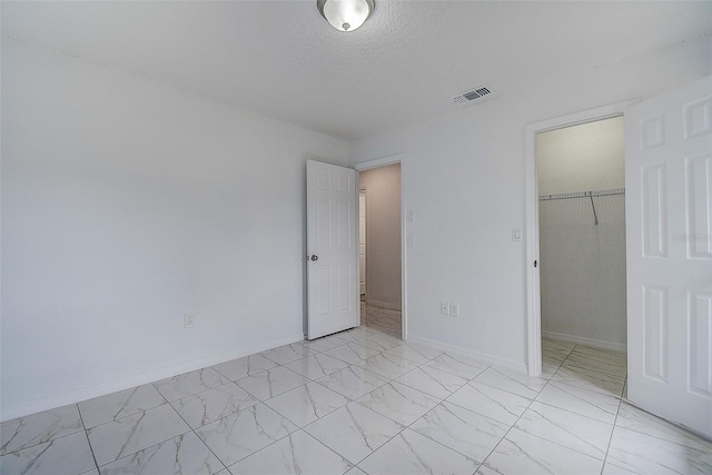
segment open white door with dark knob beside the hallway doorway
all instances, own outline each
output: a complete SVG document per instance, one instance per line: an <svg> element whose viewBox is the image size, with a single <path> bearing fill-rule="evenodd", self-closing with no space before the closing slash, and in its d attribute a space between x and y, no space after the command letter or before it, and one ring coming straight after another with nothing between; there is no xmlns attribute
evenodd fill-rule
<svg viewBox="0 0 712 475"><path fill-rule="evenodd" d="M307 337L359 325L356 171L307 160Z"/></svg>

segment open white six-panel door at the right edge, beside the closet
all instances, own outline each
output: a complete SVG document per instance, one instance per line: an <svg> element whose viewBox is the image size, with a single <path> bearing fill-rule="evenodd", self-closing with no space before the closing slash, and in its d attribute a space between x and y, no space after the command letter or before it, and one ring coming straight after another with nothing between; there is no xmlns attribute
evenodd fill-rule
<svg viewBox="0 0 712 475"><path fill-rule="evenodd" d="M712 78L625 129L629 399L712 437Z"/></svg>

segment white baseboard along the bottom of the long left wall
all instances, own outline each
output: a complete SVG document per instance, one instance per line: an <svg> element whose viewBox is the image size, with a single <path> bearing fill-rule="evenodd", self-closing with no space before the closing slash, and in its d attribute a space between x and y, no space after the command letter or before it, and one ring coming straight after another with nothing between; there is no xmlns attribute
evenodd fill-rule
<svg viewBox="0 0 712 475"><path fill-rule="evenodd" d="M148 373L141 373L139 375L134 375L121 379L100 383L93 386L29 400L27 403L6 406L0 408L0 422L40 413L42 410L53 409L57 407L66 406L68 404L80 403L82 400L91 399L99 396L106 396L107 394L116 393L117 390L129 389L142 384L152 383L155 380L172 377L182 373L188 373L208 366L217 365L218 363L229 362L231 359L241 358L243 356L248 356L255 353L264 352L266 349L276 348L277 346L301 342L303 339L303 335L277 338L258 345L251 345L246 348L224 352L217 355L206 356L204 358L194 359L178 365L167 366L165 368L156 369Z"/></svg>

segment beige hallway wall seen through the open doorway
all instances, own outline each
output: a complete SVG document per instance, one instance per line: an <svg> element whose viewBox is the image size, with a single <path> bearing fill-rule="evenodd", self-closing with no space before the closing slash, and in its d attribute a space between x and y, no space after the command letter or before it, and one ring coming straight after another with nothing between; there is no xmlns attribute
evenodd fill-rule
<svg viewBox="0 0 712 475"><path fill-rule="evenodd" d="M400 164L362 171L366 190L366 301L400 309Z"/></svg>

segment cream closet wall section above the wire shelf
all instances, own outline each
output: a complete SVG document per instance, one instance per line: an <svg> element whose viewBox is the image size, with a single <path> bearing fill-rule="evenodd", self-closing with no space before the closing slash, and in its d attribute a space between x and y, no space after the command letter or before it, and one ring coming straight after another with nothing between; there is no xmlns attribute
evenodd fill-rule
<svg viewBox="0 0 712 475"><path fill-rule="evenodd" d="M625 187L623 117L540 133L538 194Z"/></svg>

